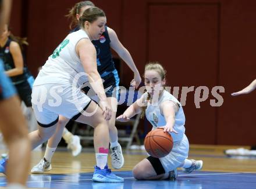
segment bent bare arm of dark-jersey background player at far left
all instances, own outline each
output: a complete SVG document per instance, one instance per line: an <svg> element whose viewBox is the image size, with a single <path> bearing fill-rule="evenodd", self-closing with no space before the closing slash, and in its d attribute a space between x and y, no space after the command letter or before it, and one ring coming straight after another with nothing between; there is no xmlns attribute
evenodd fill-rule
<svg viewBox="0 0 256 189"><path fill-rule="evenodd" d="M10 54L12 54L15 68L6 71L5 73L9 76L19 76L23 74L23 56L19 44L17 42L10 42Z"/></svg>

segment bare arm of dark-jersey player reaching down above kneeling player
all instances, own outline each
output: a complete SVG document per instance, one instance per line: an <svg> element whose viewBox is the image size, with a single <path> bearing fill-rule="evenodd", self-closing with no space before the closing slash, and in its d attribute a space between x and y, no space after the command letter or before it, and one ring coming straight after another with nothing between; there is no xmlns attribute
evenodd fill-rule
<svg viewBox="0 0 256 189"><path fill-rule="evenodd" d="M131 55L129 51L125 47L123 47L122 43L118 39L118 35L116 35L115 31L108 27L108 34L109 38L111 40L110 46L111 48L116 51L116 53L122 58L123 61L127 64L127 66L130 67L130 69L134 73L134 79L131 81L133 85L137 88L138 85L141 83L141 77L140 73L138 72L138 69L136 65L133 62L133 58L131 58Z"/></svg>

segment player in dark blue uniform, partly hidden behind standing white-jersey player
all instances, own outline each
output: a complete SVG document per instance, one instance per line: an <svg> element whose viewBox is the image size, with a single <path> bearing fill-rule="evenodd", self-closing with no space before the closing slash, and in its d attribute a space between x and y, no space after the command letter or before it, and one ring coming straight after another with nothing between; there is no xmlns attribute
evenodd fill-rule
<svg viewBox="0 0 256 189"><path fill-rule="evenodd" d="M81 1L76 3L72 9L69 11L69 15L67 15L72 22L70 24L70 28L72 26L76 26L72 32L80 29L78 24L79 18L83 15L84 10L95 6L91 1ZM104 80L103 86L104 88L108 88L108 91L105 91L106 98L108 100L109 105L112 105L112 117L111 120L108 121L109 125L109 137L110 137L110 149L111 149L111 163L112 167L115 169L120 169L124 164L124 158L122 155L122 148L118 143L118 131L115 127L115 116L116 116L116 107L118 104L117 94L118 85L119 85L119 76L118 72L115 69L115 65L112 59L111 48L118 53L120 58L123 59L124 62L130 67L130 69L134 73L134 79L131 81L131 85L136 88L141 82L140 74L138 73L137 67L131 58L131 55L127 51L125 47L120 43L118 36L115 31L111 28L105 26L105 31L102 33L100 40L92 41L94 47L97 51L97 69L101 78ZM86 91L86 87L83 88L83 91ZM89 94L87 94L89 95ZM97 99L96 99L97 100ZM48 141L47 148L45 150L44 158L31 169L31 173L44 173L51 170L51 158L54 155L55 149L61 140L61 135L64 140L67 142L68 147L72 149L72 154L74 156L78 155L81 152L81 145L78 136L70 133L66 128L66 124L69 122L69 119L63 116L59 116L59 125L56 132ZM63 130L63 128L65 128ZM63 130L63 134L62 134Z"/></svg>

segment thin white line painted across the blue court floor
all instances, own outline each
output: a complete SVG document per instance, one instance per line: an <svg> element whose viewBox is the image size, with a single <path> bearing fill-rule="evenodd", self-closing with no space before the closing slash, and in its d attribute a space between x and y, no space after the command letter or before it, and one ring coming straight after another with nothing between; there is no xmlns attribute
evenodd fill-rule
<svg viewBox="0 0 256 189"><path fill-rule="evenodd" d="M240 172L240 173L251 173L251 172ZM218 174L240 174L240 173L200 173L200 174L179 174L181 176L205 176L205 175L218 175ZM134 179L134 177L123 177L123 179ZM41 182L59 182L59 181L87 181L93 179L70 179L70 180L41 180L41 181L27 181L27 183L41 183ZM0 184L7 184L7 183L0 183Z"/></svg>

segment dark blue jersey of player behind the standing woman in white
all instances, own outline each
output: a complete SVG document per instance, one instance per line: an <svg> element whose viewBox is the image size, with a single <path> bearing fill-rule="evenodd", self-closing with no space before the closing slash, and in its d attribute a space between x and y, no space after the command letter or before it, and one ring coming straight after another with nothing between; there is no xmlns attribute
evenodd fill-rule
<svg viewBox="0 0 256 189"><path fill-rule="evenodd" d="M80 27L77 26L74 30L70 31L71 33L74 31L80 30ZM110 47L110 38L108 35L108 29L105 26L105 31L102 33L99 40L91 41L93 42L94 47L97 51L97 69L101 77L106 76L115 70L115 63L113 62L111 47Z"/></svg>

